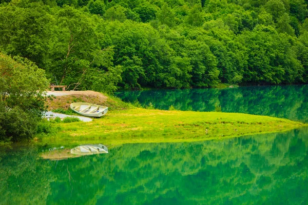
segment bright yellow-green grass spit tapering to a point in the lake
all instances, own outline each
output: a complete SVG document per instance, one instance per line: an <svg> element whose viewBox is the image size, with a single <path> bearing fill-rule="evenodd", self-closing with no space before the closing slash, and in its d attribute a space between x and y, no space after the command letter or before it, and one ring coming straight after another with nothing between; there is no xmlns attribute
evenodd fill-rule
<svg viewBox="0 0 308 205"><path fill-rule="evenodd" d="M180 142L237 137L299 128L300 122L268 116L222 112L127 109L110 111L91 122L53 124L56 134L39 137L43 143L72 145L103 143Z"/></svg>

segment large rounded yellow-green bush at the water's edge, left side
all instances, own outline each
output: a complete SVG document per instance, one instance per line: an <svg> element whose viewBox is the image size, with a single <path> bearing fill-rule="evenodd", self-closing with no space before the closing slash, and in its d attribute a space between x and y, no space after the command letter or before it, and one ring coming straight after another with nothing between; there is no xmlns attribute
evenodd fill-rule
<svg viewBox="0 0 308 205"><path fill-rule="evenodd" d="M44 70L0 53L0 140L31 138L45 110Z"/></svg>

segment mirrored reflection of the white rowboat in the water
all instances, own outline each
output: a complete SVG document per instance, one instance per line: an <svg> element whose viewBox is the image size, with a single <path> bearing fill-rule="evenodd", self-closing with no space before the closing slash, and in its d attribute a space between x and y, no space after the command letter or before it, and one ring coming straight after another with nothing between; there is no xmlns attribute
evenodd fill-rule
<svg viewBox="0 0 308 205"><path fill-rule="evenodd" d="M72 154L88 155L108 153L108 148L102 144L98 145L80 145L71 149Z"/></svg>

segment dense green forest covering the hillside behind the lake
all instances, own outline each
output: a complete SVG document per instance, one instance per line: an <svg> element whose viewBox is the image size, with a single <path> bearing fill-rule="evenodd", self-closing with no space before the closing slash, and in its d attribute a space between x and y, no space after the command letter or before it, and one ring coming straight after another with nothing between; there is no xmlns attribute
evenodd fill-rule
<svg viewBox="0 0 308 205"><path fill-rule="evenodd" d="M304 0L0 3L0 49L69 89L308 81Z"/></svg>

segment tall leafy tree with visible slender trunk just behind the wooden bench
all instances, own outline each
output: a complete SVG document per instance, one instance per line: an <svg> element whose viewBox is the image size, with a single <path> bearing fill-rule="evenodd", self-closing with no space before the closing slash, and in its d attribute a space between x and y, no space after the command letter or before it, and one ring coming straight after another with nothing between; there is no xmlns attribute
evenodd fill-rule
<svg viewBox="0 0 308 205"><path fill-rule="evenodd" d="M46 61L45 66L51 79L76 89L88 69L106 64L110 53L100 48L93 20L88 16L64 7L57 13L56 21L49 44L52 63Z"/></svg>

